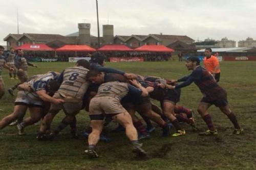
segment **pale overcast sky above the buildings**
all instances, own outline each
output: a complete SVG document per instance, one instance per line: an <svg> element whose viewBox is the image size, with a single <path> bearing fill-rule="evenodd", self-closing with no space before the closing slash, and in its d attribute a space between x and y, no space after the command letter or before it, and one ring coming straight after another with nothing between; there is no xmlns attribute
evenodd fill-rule
<svg viewBox="0 0 256 170"><path fill-rule="evenodd" d="M9 33L67 35L77 23L91 23L97 36L95 0L0 0L0 44ZM195 40L256 39L255 0L98 0L102 25L114 25L114 35L187 35Z"/></svg>

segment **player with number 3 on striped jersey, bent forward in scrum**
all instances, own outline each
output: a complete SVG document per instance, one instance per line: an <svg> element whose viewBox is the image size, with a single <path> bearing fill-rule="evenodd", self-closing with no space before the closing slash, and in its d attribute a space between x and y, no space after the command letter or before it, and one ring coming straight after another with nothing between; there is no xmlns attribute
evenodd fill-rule
<svg viewBox="0 0 256 170"><path fill-rule="evenodd" d="M87 78L90 78L90 73ZM138 96L148 95L147 90L138 84L136 80L131 80L131 83L135 87L121 82L103 83L99 86L96 96L91 100L89 116L92 133L88 137L89 148L85 151L90 157L98 157L95 146L103 129L104 115L117 120L125 128L126 136L131 140L134 152L139 155L146 155L146 152L141 148L142 144L138 142L138 134L133 125L131 115L120 104L120 100L129 92Z"/></svg>

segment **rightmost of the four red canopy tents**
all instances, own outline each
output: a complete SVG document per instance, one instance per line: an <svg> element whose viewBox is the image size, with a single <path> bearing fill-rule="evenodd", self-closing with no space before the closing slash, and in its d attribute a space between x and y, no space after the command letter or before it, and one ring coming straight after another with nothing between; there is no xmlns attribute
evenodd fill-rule
<svg viewBox="0 0 256 170"><path fill-rule="evenodd" d="M137 52L163 52L172 53L174 50L172 48L167 48L164 45L142 45L135 49Z"/></svg>

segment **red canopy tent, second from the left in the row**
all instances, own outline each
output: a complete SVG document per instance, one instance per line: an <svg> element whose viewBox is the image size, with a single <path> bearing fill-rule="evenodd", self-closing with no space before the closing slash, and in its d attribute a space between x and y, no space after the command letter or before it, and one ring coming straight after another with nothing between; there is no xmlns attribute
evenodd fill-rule
<svg viewBox="0 0 256 170"><path fill-rule="evenodd" d="M56 49L56 52L95 52L96 50L88 45L64 45Z"/></svg>

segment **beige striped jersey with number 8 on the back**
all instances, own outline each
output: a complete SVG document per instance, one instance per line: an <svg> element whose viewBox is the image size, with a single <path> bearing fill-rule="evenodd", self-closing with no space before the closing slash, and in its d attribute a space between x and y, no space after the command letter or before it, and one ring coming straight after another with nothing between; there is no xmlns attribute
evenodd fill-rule
<svg viewBox="0 0 256 170"><path fill-rule="evenodd" d="M63 74L63 81L58 89L58 93L63 96L69 96L75 99L83 98L90 83L86 80L89 69L82 66L66 68Z"/></svg>

